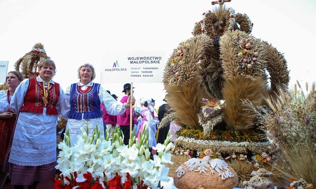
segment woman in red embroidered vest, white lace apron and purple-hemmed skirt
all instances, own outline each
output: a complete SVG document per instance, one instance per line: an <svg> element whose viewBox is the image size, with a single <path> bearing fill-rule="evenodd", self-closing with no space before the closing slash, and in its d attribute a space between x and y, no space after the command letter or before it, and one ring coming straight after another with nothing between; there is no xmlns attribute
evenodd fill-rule
<svg viewBox="0 0 316 189"><path fill-rule="evenodd" d="M21 82L12 97L19 114L4 171L8 169L15 189L36 188L56 174L56 126L64 91L52 80L55 70L54 61L41 60L39 76Z"/></svg>

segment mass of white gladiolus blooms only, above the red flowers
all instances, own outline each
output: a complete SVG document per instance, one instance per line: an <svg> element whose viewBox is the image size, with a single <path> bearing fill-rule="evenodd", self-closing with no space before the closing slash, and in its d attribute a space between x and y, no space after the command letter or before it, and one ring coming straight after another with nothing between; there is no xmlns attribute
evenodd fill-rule
<svg viewBox="0 0 316 189"><path fill-rule="evenodd" d="M86 127L88 129L88 127ZM91 173L94 180L96 177L100 181L109 181L116 176L121 176L121 183L127 181L127 173L132 180L142 180L144 184L151 188L157 188L159 181L168 181L169 168L165 163L173 164L171 154L168 151L173 147L172 143L157 144L153 147L158 155L154 155L154 160L150 159L150 151L146 148L148 141L130 142L130 147L122 143L119 137L119 129L113 130L113 140L107 141L104 136L98 138L99 131L95 131L94 136L90 136L81 128L82 136L78 137L77 144L70 147L70 138L65 136L65 140L58 144L61 150L55 167L62 172L64 177L77 172L77 182L84 182L83 174ZM148 135L148 133L145 133ZM148 138L148 136L142 138ZM166 140L165 143L167 143ZM105 177L104 177L105 175ZM65 179L64 179L65 180ZM67 181L67 180L66 180ZM65 181L65 183L66 183ZM67 181L68 182L68 181ZM133 188L137 188L136 183L132 183Z"/></svg>

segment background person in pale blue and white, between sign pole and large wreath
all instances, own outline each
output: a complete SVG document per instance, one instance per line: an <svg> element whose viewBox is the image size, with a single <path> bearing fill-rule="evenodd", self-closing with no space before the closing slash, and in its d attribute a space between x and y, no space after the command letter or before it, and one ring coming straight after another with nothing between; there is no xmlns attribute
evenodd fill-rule
<svg viewBox="0 0 316 189"><path fill-rule="evenodd" d="M144 102L144 108L141 111L141 116L142 116L142 123L138 129L136 137L139 139L140 132L143 132L143 129L146 127L148 130L148 144L149 147L156 147L157 141L156 141L156 125L159 123L158 119L154 119L151 111L150 111L150 103L151 101L146 101Z"/></svg>

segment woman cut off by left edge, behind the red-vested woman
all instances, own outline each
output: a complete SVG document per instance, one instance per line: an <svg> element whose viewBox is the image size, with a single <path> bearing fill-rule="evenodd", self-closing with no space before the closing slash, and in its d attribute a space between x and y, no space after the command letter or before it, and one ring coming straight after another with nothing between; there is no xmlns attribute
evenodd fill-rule
<svg viewBox="0 0 316 189"><path fill-rule="evenodd" d="M8 173L2 172L6 153L9 147L11 134L16 120L16 113L10 106L16 87L24 79L23 75L17 71L11 71L7 76L7 90L0 90L0 188L3 187Z"/></svg>

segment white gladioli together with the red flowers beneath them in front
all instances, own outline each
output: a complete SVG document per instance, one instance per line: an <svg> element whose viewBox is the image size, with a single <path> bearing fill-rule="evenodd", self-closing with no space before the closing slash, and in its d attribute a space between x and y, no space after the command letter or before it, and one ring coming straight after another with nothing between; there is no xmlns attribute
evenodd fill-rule
<svg viewBox="0 0 316 189"><path fill-rule="evenodd" d="M139 139L130 139L129 145L123 144L118 127L112 140L110 130L105 137L100 136L97 127L92 136L88 135L88 126L81 131L82 136L74 146L70 145L68 131L58 144L61 151L56 169L61 174L52 178L55 188L162 188L160 181L170 180L165 164L173 164L168 153L173 147L171 136L167 136L164 144L153 147L157 154L151 159L146 129Z"/></svg>

